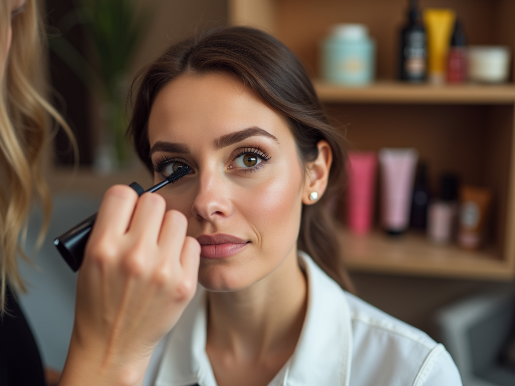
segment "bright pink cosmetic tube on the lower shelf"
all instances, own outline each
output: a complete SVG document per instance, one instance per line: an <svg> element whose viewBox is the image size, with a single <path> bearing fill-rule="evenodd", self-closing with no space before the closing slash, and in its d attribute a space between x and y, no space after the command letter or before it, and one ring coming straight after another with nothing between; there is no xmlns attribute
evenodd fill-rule
<svg viewBox="0 0 515 386"><path fill-rule="evenodd" d="M372 225L377 157L374 152L349 152L347 223L355 234L366 234Z"/></svg>

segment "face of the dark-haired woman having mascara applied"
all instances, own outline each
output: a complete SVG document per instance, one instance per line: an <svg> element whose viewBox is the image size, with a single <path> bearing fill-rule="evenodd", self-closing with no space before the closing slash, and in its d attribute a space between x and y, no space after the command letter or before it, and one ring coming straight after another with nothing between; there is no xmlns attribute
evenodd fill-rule
<svg viewBox="0 0 515 386"><path fill-rule="evenodd" d="M202 246L199 282L243 289L296 258L304 169L286 121L229 75L183 75L153 103L154 180L192 172L160 190Z"/></svg>

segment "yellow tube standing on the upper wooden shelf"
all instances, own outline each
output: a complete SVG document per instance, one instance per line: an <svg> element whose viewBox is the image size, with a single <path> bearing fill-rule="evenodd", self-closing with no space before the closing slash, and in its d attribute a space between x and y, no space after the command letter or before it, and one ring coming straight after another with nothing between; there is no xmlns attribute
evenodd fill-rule
<svg viewBox="0 0 515 386"><path fill-rule="evenodd" d="M445 62L456 20L452 9L428 8L424 10L427 31L427 75L432 83L443 83Z"/></svg>

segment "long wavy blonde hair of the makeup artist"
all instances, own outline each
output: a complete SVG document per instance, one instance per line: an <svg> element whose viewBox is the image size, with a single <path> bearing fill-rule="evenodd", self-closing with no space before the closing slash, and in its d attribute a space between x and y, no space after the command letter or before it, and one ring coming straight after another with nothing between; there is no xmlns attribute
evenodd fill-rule
<svg viewBox="0 0 515 386"><path fill-rule="evenodd" d="M0 37L7 42L11 23L10 1L0 3ZM43 208L41 244L52 210L48 186L42 176L42 152L47 145L49 118L70 136L77 157L77 145L70 127L46 101L38 85L43 85L42 54L44 31L36 0L27 0L25 9L12 21L10 51L1 68L0 86L0 308L6 309L6 286L26 291L18 271L17 257L25 257L19 238L26 234L27 217L33 199Z"/></svg>

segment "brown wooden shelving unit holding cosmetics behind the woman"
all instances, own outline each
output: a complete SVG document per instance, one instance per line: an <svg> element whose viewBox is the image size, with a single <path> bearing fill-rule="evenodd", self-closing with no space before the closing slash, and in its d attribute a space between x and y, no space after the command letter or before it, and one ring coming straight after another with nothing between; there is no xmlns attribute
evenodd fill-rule
<svg viewBox="0 0 515 386"><path fill-rule="evenodd" d="M425 2L421 7L437 4ZM448 3L448 4L447 4ZM450 0L467 27L470 44L515 48L515 2ZM495 3L495 7L492 4ZM320 73L320 42L337 23L363 23L376 42L377 81L344 87L314 81L330 119L358 149L416 147L435 176L452 170L462 183L492 190L492 249L437 247L423 236L390 239L341 233L347 266L354 271L505 280L515 277L515 83L409 84L397 73L398 31L405 2L372 0L229 0L233 23L264 28L281 40L310 76ZM512 63L515 79L515 63ZM353 104L349 107L348 104Z"/></svg>

